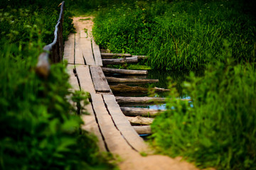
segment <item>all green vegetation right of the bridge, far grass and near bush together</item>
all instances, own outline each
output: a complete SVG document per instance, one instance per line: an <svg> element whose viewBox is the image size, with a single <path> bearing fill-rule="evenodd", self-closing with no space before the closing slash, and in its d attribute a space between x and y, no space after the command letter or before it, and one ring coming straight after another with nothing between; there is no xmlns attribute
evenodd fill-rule
<svg viewBox="0 0 256 170"><path fill-rule="evenodd" d="M171 84L167 111L154 120L152 145L200 167L255 169L254 3L246 1L122 1L98 8L93 34L112 52L149 55L157 69L206 69ZM254 13L255 14L255 13Z"/></svg>

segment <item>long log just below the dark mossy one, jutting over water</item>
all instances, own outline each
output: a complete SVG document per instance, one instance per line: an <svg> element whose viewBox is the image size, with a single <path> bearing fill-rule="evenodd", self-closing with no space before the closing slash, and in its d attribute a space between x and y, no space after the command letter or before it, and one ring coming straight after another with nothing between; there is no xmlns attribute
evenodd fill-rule
<svg viewBox="0 0 256 170"><path fill-rule="evenodd" d="M166 98L116 96L117 103L165 103Z"/></svg>

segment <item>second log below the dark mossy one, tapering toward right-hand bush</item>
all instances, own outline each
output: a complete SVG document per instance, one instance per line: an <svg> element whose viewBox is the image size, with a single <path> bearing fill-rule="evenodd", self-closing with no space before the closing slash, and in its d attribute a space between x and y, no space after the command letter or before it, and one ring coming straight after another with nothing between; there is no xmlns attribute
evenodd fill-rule
<svg viewBox="0 0 256 170"><path fill-rule="evenodd" d="M129 107L121 107L122 113L127 116L156 116L159 113L165 110L158 110L158 109L149 109L149 108L129 108Z"/></svg>

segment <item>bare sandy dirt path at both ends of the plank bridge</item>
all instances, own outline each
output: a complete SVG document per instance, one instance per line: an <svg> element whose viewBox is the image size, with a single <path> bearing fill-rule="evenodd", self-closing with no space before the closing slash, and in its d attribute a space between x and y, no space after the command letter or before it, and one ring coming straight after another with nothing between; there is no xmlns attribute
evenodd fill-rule
<svg viewBox="0 0 256 170"><path fill-rule="evenodd" d="M92 22L93 17L75 17L73 18L73 22L76 28L77 33L83 33L81 30L87 30L87 36L92 37ZM86 32L86 31L85 31ZM92 113L93 115L93 113ZM85 124L87 120L85 118ZM106 138L106 137L105 137ZM112 137L114 141L114 137ZM118 142L117 142L118 143ZM113 146L112 146L113 147ZM113 149L112 154L117 154L121 158L121 162L119 162L119 169L122 170L196 170L196 166L191 163L185 162L181 160L181 157L177 157L172 159L163 155L149 155L146 157L142 157L139 152L130 148L122 148L122 146L116 146L116 149Z"/></svg>

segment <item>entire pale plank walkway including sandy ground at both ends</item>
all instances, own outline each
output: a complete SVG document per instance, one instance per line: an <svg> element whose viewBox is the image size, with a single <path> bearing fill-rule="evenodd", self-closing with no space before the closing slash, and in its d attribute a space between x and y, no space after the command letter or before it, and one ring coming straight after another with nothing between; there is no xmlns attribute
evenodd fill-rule
<svg viewBox="0 0 256 170"><path fill-rule="evenodd" d="M187 162L181 162L181 158L171 159L161 155L142 157L139 154L151 151L122 113L112 94L103 72L106 70L102 70L100 47L92 38L92 18L87 18L74 18L77 33L69 35L64 50L73 86L70 90L90 93L90 103L85 106L90 115L82 115L85 122L82 129L97 136L102 152L112 152L121 157L119 169L196 169Z"/></svg>

